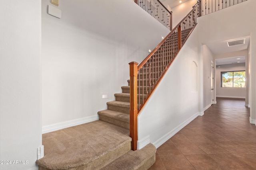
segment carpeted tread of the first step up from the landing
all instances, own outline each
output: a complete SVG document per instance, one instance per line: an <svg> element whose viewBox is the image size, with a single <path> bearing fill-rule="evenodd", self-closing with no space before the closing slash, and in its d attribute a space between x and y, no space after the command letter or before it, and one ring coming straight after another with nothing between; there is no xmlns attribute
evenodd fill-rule
<svg viewBox="0 0 256 170"><path fill-rule="evenodd" d="M130 115L128 115L126 113L122 113L122 112L118 112L118 111L112 111L112 110L102 110L102 111L98 111L98 114L130 123Z"/></svg>

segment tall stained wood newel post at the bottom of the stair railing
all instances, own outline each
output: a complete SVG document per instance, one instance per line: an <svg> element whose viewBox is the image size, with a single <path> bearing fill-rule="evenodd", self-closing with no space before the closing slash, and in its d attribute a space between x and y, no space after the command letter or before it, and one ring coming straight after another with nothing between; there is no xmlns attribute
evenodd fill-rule
<svg viewBox="0 0 256 170"><path fill-rule="evenodd" d="M132 150L137 150L138 141L138 106L137 106L137 76L138 63L130 65L130 137L132 138Z"/></svg>

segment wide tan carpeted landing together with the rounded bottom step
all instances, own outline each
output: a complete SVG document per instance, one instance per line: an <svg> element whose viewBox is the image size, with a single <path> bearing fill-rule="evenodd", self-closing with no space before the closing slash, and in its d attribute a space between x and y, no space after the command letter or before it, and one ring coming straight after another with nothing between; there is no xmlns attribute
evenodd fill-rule
<svg viewBox="0 0 256 170"><path fill-rule="evenodd" d="M45 133L39 170L146 170L155 162L148 144L132 151L129 130L101 120Z"/></svg>

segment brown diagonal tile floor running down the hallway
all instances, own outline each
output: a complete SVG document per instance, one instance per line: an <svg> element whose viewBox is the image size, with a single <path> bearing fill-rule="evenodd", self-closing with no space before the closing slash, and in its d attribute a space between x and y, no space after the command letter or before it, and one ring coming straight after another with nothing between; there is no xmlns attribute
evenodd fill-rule
<svg viewBox="0 0 256 170"><path fill-rule="evenodd" d="M244 104L217 98L157 149L150 170L256 170L256 126Z"/></svg>

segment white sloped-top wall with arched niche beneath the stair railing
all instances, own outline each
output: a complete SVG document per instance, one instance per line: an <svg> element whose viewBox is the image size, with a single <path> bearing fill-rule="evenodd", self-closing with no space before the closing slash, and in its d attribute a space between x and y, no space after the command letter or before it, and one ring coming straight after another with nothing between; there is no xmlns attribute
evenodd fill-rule
<svg viewBox="0 0 256 170"><path fill-rule="evenodd" d="M156 147L198 116L198 29L192 32L138 116L138 148Z"/></svg>

